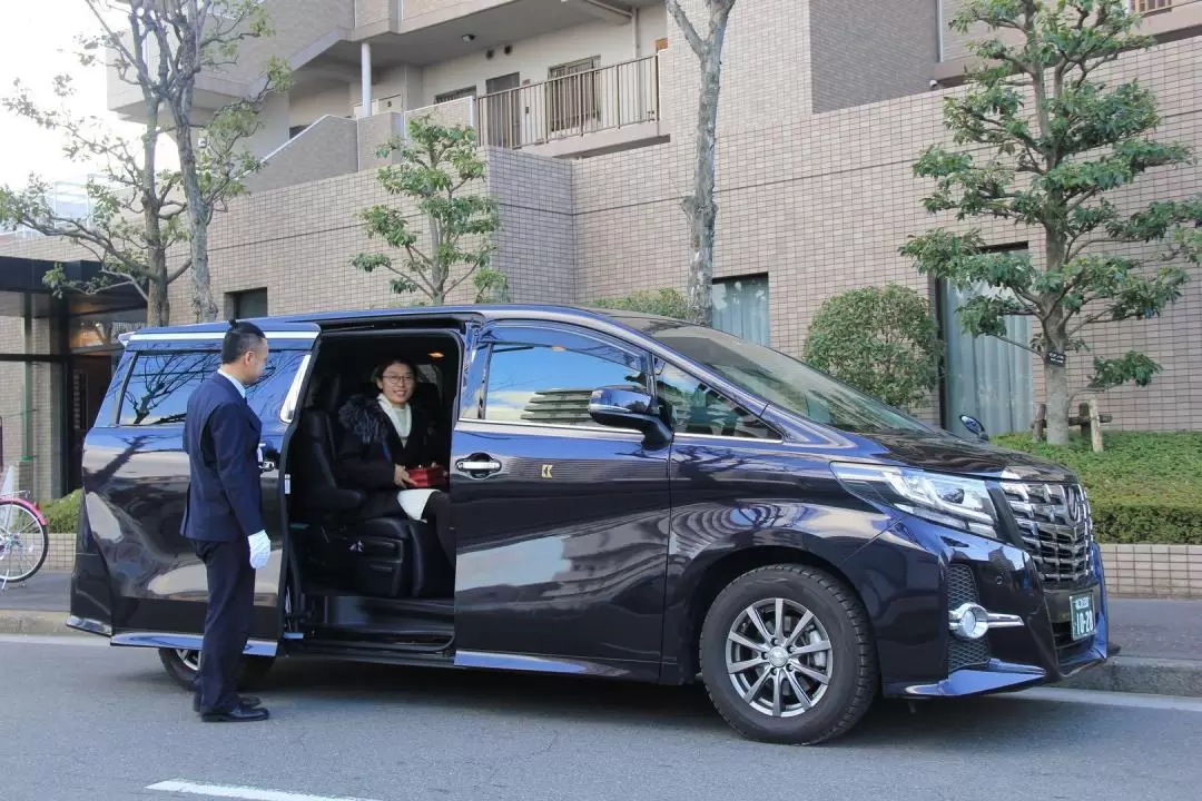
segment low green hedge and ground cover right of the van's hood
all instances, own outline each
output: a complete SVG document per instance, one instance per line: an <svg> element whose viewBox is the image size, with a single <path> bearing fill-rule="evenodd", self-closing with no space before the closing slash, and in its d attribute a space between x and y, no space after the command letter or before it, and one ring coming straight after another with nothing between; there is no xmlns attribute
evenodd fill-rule
<svg viewBox="0 0 1202 801"><path fill-rule="evenodd" d="M1103 543L1202 545L1202 432L1113 432L1095 454L1079 437L1064 447L1007 435L994 442L1072 468L1089 492Z"/></svg>

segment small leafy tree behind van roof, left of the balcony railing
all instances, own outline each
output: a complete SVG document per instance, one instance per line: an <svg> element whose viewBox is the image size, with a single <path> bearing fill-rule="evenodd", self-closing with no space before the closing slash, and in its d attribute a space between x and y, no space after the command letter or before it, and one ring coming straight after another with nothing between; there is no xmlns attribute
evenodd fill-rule
<svg viewBox="0 0 1202 801"><path fill-rule="evenodd" d="M419 294L424 303L442 305L447 295L469 277L476 286L476 301L507 300L505 274L489 267L496 249L493 234L499 226L496 202L487 193L469 191L483 184L484 159L476 147L476 131L469 126L447 127L429 115L409 124L409 139L393 137L379 155L395 154L397 163L377 171L383 190L416 205L426 222L426 244L410 225L406 210L374 205L358 214L368 238L379 237L404 250L400 263L385 253L359 253L351 264L373 273L393 273L389 287L398 294ZM462 268L453 275L454 268Z"/></svg>

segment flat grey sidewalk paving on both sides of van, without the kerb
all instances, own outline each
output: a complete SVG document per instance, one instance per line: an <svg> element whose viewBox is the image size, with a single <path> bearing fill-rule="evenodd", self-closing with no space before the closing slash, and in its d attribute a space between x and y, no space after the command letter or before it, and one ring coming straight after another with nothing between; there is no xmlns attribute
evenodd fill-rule
<svg viewBox="0 0 1202 801"><path fill-rule="evenodd" d="M0 592L0 610L66 611L70 573L38 573ZM1202 600L1112 598L1111 639L1124 656L1202 659Z"/></svg>

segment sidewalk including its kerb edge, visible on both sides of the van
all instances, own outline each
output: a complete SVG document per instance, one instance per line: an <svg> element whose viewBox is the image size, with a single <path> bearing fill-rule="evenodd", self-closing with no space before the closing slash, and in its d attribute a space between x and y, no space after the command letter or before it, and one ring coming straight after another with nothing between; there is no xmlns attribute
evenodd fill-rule
<svg viewBox="0 0 1202 801"><path fill-rule="evenodd" d="M63 626L71 574L42 572L0 592L0 634L75 633ZM1202 600L1111 598L1108 664L1065 686L1202 698Z"/></svg>

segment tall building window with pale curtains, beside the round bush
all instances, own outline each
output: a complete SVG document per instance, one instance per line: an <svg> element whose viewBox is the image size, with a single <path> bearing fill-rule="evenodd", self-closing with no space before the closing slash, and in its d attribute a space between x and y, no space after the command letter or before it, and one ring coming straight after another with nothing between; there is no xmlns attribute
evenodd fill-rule
<svg viewBox="0 0 1202 801"><path fill-rule="evenodd" d="M1027 252L1025 246L998 250ZM1030 429L1035 407L1031 353L1011 342L1031 341L1031 318L1006 318L1006 339L1011 342L994 336L972 336L960 328L956 310L976 295L1001 291L987 285L960 291L942 281L938 292L939 322L946 342L944 428L971 436L959 419L960 414L970 414L992 435Z"/></svg>

